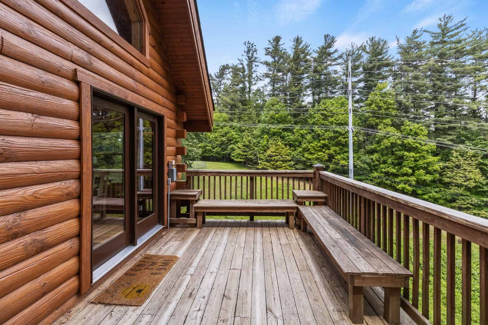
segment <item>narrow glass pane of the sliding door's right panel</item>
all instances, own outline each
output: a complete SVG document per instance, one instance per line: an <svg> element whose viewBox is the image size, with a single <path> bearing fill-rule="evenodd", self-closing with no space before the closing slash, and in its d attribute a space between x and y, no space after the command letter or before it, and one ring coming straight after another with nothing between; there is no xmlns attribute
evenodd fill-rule
<svg viewBox="0 0 488 325"><path fill-rule="evenodd" d="M137 223L139 224L155 213L155 122L142 117L138 117L136 122L136 193Z"/></svg>

